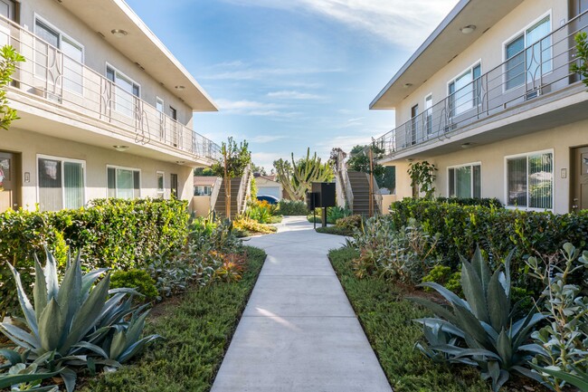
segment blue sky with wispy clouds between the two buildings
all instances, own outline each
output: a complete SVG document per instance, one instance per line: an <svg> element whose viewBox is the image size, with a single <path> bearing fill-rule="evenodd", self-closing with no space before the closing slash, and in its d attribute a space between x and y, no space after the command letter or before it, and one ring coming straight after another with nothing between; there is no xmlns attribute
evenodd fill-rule
<svg viewBox="0 0 588 392"><path fill-rule="evenodd" d="M394 129L369 110L458 0L127 0L213 98L194 130L253 162L326 160Z"/></svg>

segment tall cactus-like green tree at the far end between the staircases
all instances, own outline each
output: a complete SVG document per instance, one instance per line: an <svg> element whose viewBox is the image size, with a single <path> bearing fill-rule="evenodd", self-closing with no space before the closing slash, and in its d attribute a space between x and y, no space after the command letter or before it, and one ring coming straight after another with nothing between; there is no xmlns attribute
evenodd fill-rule
<svg viewBox="0 0 588 392"><path fill-rule="evenodd" d="M307 150L306 158L295 161L292 153L291 159L291 164L281 158L275 160L273 167L276 168L278 179L292 200L304 200L313 182L331 181L334 177L331 167L328 163L322 163L316 152L310 158L310 148Z"/></svg>

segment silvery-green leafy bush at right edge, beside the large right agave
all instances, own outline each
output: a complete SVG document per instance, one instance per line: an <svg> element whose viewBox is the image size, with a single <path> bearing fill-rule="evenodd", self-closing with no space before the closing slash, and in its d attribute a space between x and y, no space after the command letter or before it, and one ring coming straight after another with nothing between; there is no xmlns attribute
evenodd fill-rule
<svg viewBox="0 0 588 392"><path fill-rule="evenodd" d="M562 371L572 377L588 373L588 298L583 287L570 284L569 276L588 269L588 252L581 254L572 244L543 258L529 257L530 273L545 285L541 302L549 324L533 333L541 351L534 362L542 368ZM584 286L585 287L585 286ZM543 372L545 382L561 392L565 378Z"/></svg>

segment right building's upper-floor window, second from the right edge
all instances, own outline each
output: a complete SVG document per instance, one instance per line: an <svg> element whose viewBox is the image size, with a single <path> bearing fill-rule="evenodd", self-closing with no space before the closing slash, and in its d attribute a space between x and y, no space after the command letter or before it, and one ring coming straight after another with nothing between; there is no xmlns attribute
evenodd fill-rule
<svg viewBox="0 0 588 392"><path fill-rule="evenodd" d="M476 64L449 82L451 117L459 116L479 105L482 90L479 80L481 74L482 65Z"/></svg>

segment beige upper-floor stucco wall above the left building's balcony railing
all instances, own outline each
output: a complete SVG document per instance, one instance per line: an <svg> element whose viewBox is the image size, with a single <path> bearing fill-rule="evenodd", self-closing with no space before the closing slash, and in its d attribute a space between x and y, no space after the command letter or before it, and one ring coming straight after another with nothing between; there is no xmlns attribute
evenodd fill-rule
<svg viewBox="0 0 588 392"><path fill-rule="evenodd" d="M73 40L84 46L84 63L92 70L106 75L107 62L123 72L129 78L140 85L140 95L151 106L156 106L156 96L164 100L166 114L169 115L169 106L177 110L178 121L192 126L192 110L175 95L166 90L150 77L146 72L141 71L138 66L130 61L123 53L106 43L100 35L91 30L80 19L71 14L62 5L54 0L24 0L21 3L20 21L26 29L34 32L34 18L38 15L44 21L52 24L62 33L67 34Z"/></svg>

